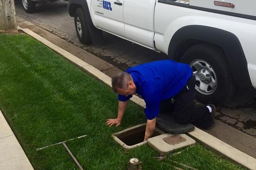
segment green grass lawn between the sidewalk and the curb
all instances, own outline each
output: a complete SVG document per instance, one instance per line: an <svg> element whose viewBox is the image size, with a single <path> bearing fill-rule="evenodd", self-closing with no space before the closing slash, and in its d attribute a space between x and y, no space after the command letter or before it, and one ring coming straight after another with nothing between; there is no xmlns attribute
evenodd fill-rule
<svg viewBox="0 0 256 170"><path fill-rule="evenodd" d="M110 128L105 121L116 117L117 103L111 88L40 42L24 34L0 35L0 109L35 170L78 169L62 145L36 149L82 135L87 136L67 146L85 170L125 170L131 157L143 161L143 170L172 170L171 160L198 170L243 169L200 144L163 162L146 144L123 150L111 134L145 117L130 102L122 126Z"/></svg>

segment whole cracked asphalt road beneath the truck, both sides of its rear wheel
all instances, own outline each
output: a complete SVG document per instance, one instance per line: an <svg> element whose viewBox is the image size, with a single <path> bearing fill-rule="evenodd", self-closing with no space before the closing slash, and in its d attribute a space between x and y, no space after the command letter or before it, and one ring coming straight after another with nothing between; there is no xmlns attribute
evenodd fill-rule
<svg viewBox="0 0 256 170"><path fill-rule="evenodd" d="M167 59L165 54L157 53L140 45L104 32L105 40L101 45L83 45L76 37L73 18L67 11L67 2L58 1L39 6L34 14L26 14L20 0L15 0L16 14L44 28L64 40L83 48L115 65L121 70L160 59ZM240 89L233 101L219 106L216 119L256 137L256 91Z"/></svg>

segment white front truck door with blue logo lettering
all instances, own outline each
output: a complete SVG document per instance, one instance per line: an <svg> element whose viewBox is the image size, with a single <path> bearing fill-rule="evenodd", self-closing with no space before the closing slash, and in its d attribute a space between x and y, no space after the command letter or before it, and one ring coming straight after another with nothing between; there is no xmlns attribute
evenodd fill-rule
<svg viewBox="0 0 256 170"><path fill-rule="evenodd" d="M91 15L94 26L124 36L124 0L92 0Z"/></svg>

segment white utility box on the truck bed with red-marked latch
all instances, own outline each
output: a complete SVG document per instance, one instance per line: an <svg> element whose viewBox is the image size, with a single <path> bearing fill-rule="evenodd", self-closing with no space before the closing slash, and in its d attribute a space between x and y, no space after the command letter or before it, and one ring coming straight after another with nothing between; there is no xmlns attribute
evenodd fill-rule
<svg viewBox="0 0 256 170"><path fill-rule="evenodd" d="M190 6L256 16L256 0L190 0Z"/></svg>

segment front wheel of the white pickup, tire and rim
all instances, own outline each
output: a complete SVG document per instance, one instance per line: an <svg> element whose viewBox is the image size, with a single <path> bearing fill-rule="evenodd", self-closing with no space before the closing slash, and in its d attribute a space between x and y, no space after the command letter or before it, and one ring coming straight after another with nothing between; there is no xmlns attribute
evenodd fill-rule
<svg viewBox="0 0 256 170"><path fill-rule="evenodd" d="M87 22L85 20L85 13L82 8L76 9L75 15L74 15L74 21L75 21L75 27L76 27L76 34L79 41L83 44L92 43ZM80 23L80 26L78 26L79 23Z"/></svg>

